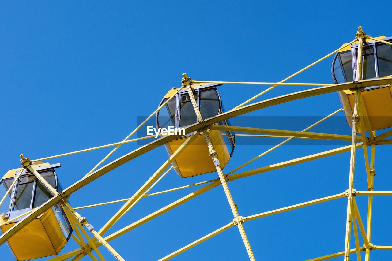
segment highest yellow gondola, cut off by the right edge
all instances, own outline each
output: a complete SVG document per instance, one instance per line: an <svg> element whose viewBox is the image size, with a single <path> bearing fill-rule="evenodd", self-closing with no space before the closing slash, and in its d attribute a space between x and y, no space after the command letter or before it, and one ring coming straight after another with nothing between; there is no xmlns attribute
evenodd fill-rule
<svg viewBox="0 0 392 261"><path fill-rule="evenodd" d="M392 37L386 38L385 36L379 36L377 39L392 41ZM357 57L358 44L347 46L341 52L336 53L332 63L332 76L335 83L353 82L356 79ZM392 75L392 45L375 40L367 41L363 45L362 64L361 80ZM339 99L342 108L345 108L344 114L350 127L352 127L354 95L355 92L350 90L339 92ZM367 87L361 92L361 98L372 130L392 127L392 85ZM366 125L364 129L365 132L368 131ZM361 132L359 124L357 132Z"/></svg>

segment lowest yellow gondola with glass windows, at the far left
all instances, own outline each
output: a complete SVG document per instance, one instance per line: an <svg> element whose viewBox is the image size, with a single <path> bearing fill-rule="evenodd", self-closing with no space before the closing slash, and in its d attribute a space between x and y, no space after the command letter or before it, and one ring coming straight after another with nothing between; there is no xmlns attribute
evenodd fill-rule
<svg viewBox="0 0 392 261"><path fill-rule="evenodd" d="M53 165L39 163L33 167L55 190L62 191L54 171L55 168L60 167L60 163ZM8 190L9 193L6 194ZM23 218L21 215L53 197L41 181L23 168L9 170L4 175L0 181L0 194L6 194L0 206L2 233L18 223ZM7 243L16 260L29 260L58 254L71 233L72 228L64 210L61 206L54 205L18 231Z"/></svg>

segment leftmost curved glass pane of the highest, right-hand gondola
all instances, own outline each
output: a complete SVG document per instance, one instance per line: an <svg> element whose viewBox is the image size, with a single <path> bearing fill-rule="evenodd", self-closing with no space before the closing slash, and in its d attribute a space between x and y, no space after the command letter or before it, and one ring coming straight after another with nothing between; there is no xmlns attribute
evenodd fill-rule
<svg viewBox="0 0 392 261"><path fill-rule="evenodd" d="M354 81L352 75L351 51L338 54L334 65L334 74L338 83Z"/></svg>

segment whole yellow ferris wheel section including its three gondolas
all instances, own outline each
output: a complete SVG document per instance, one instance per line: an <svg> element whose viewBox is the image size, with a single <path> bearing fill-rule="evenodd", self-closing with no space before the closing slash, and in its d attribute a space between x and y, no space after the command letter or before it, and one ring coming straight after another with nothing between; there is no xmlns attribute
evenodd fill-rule
<svg viewBox="0 0 392 261"><path fill-rule="evenodd" d="M333 54L335 54L332 64L334 84L286 82ZM20 161L22 167L9 170L0 183L2 197L0 201L0 210L2 212L0 213L2 214L0 229L3 233L0 237L0 245L7 242L16 260L20 261L39 257L48 257L48 260L51 261L79 260L83 257L93 260L105 260L101 253L102 249L99 248L100 246L104 246L117 260L124 260L120 251L116 252L110 245L110 241L125 233L132 233L134 228L200 196L212 188L222 186L229 203L228 207L232 212L232 221L200 239L187 245L179 246L181 248L162 257L160 261L169 260L180 255L193 246L229 228L234 229L234 227L237 227L236 229L240 232L241 241L245 246L249 259L263 260L263 257L254 255L252 242L247 237L246 225L244 227L244 223L338 198L347 198L344 249L341 252L330 253L327 256L315 257L309 260L319 261L343 256L344 260L348 261L350 254L354 255L354 253L356 258L361 260L361 252L365 252L365 260L370 260L372 250L392 250L392 246L374 245L371 238L373 196L392 195L392 191L377 191L373 187L374 176L376 175L374 164L376 145L392 144L392 140L387 139L389 136L392 136L392 130L385 130L392 127L392 37L380 36L373 38L363 32L361 27L358 27L354 40L343 44L336 51L292 74L281 82L198 81L192 80L184 73L181 83L181 87L169 90L163 97L158 109L152 112L145 121L121 142L34 160L25 158L21 154ZM233 109L225 111L217 88L223 84L272 86ZM250 103L278 85L310 86L312 89ZM229 122L231 118L263 108L331 92L339 93L342 107L302 131L240 127L232 126ZM347 122L352 128L351 136L308 131L341 111L345 114ZM151 129L151 135L130 140L131 136L151 118L155 118L156 121L156 126ZM376 134L376 130L380 130L380 133L377 131ZM357 136L357 134L361 134L361 136ZM100 167L103 161L111 156L122 144L149 139L154 136L161 137ZM233 156L236 136L274 137L285 138L285 140L235 169L226 171L224 168ZM257 169L238 171L294 138L351 141L351 145L274 163ZM47 163L49 159L110 146L116 147L82 179L68 188L61 187L60 178L56 174L60 164ZM167 160L136 192L132 192L131 198L78 208L74 208L69 203L69 198L72 198L71 194L82 189L85 185L129 161L132 163L132 160L138 156L161 146L164 146L167 150ZM354 186L355 160L356 156L359 157L357 155L357 149L359 148L363 148L367 190L356 190ZM347 190L339 194L312 199L296 205L256 213L251 216L241 216L240 206L235 203L235 198L233 198L230 192L229 181L348 151L350 151L350 162L347 162L349 166ZM148 194L171 170L174 170L181 178L189 178L211 172L216 172L218 175L212 180ZM343 175L343 177L345 176ZM197 185L202 187L112 234L105 234L146 195L154 196ZM367 217L360 215L356 196L368 197ZM87 221L88 217L81 216L77 211L82 208L98 207L118 202L125 203L99 230ZM351 244L352 237L354 237L354 246ZM359 245L359 238L363 240L363 245ZM75 241L80 247L67 253L60 253L69 240ZM244 256L245 258L246 256Z"/></svg>

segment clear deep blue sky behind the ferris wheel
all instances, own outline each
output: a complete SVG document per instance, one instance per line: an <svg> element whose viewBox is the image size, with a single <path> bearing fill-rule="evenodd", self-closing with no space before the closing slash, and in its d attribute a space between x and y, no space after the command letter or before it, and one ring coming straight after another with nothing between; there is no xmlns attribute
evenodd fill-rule
<svg viewBox="0 0 392 261"><path fill-rule="evenodd" d="M183 72L195 80L278 82L353 40L359 25L371 36L392 36L385 13L390 2L364 2L358 4L360 11L356 5L341 1L2 2L0 172L18 168L21 153L37 159L121 141L137 126L138 116L148 116L169 89L181 85ZM290 81L332 83L331 62L329 58ZM231 109L265 88L223 85L219 91L225 108ZM279 86L257 101L302 89ZM321 119L339 107L338 95L332 93L251 115ZM350 134L343 117L331 122L314 131ZM288 125L291 130L307 127L307 123ZM286 145L244 170L342 144L349 142ZM224 172L270 147L238 138ZM137 144L123 145L107 162L136 148ZM63 187L68 187L110 150L49 163L62 163L56 172ZM357 190L367 189L362 151L358 150ZM376 147L375 190L392 190L390 152L389 147ZM79 207L129 198L166 159L163 147L149 152L74 193L70 202ZM348 187L348 167L349 152L232 181L229 187L240 215L249 216L343 192ZM210 173L181 179L173 171L152 192L216 177ZM196 189L142 199L105 235ZM357 197L357 201L365 221L367 198ZM374 245L392 245L391 203L388 196L374 198ZM100 228L121 206L88 208L80 214ZM244 227L257 260L305 260L344 250L346 209L347 200L336 199L249 221ZM126 260L156 260L231 221L223 189L216 187L110 244ZM63 252L75 248L70 239ZM7 245L0 246L0 252L2 260L13 260ZM107 260L113 259L107 250L101 252ZM389 260L392 252L375 250L371 256ZM234 227L172 260L247 260L247 254ZM350 260L356 260L355 254Z"/></svg>

